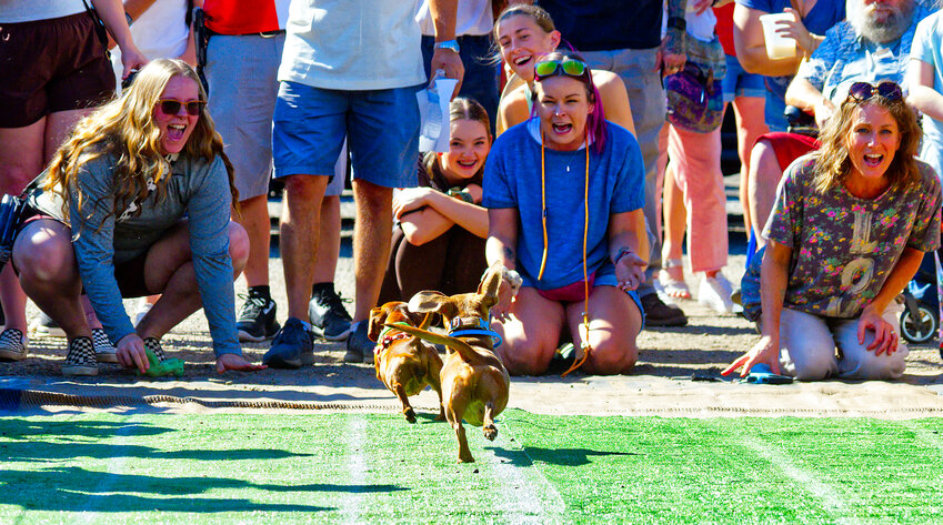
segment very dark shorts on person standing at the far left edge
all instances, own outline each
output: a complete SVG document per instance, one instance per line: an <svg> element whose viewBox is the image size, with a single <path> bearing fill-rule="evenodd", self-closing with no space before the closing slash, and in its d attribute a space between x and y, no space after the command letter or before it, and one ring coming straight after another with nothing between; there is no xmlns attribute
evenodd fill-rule
<svg viewBox="0 0 943 525"><path fill-rule="evenodd" d="M114 71L87 12L0 27L0 128L100 105Z"/></svg>

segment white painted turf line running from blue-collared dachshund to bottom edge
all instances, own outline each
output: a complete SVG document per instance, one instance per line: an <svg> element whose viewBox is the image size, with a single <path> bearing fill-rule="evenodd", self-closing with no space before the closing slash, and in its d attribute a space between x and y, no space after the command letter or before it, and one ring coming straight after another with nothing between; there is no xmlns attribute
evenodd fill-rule
<svg viewBox="0 0 943 525"><path fill-rule="evenodd" d="M502 496L502 501L498 504L502 517L506 517L508 523L513 524L563 523L566 521L566 506L560 493L556 492L556 487L533 465L533 460L525 451L508 441L506 427L504 431L498 433L495 445L505 451L523 454L530 460L530 467L515 466L510 461L491 453L491 467L500 484L499 492Z"/></svg>

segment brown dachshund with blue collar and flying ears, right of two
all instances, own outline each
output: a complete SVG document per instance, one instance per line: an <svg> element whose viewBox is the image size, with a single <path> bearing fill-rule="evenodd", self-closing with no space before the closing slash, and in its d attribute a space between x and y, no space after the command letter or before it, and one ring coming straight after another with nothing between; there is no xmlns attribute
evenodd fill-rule
<svg viewBox="0 0 943 525"><path fill-rule="evenodd" d="M494 416L508 406L511 378L501 360L494 354L492 336L488 326L488 312L498 303L502 273L490 270L476 293L445 296L439 292L419 292L409 302L411 312L442 314L450 326L450 335L441 335L423 329L398 326L424 341L447 345L453 352L442 365L442 396L445 402L445 418L449 420L459 440L459 463L473 462L469 451L462 420L481 426L484 437L494 441L498 427ZM389 326L389 323L388 323Z"/></svg>

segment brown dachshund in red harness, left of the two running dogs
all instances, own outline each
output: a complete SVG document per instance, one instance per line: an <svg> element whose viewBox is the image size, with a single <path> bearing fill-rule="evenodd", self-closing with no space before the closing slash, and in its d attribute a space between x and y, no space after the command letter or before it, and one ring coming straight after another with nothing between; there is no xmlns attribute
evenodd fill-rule
<svg viewBox="0 0 943 525"><path fill-rule="evenodd" d="M402 324L425 329L428 317L429 315L410 313L407 303L401 301L391 301L370 311L370 330L367 335L370 341L377 343L373 349L377 378L400 400L403 404L403 415L410 423L415 423L415 412L409 404L409 396L419 394L427 385L432 386L439 394L439 417L435 420L445 420L442 388L439 386L439 373L442 370L439 352L400 330Z"/></svg>

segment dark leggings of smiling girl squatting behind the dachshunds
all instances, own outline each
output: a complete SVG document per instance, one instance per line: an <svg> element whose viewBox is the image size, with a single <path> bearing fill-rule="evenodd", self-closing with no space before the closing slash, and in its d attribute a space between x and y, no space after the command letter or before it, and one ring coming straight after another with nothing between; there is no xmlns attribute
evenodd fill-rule
<svg viewBox="0 0 943 525"><path fill-rule="evenodd" d="M409 301L423 290L445 295L474 292L486 267L484 241L454 225L437 239L414 246L407 241L402 228L395 228L379 304Z"/></svg>

